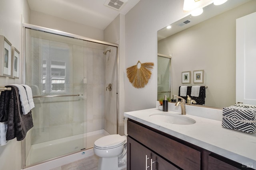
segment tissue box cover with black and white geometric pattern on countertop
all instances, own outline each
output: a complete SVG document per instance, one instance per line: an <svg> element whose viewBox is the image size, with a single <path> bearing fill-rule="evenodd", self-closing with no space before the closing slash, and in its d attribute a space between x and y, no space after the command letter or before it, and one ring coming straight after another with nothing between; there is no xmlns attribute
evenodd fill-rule
<svg viewBox="0 0 256 170"><path fill-rule="evenodd" d="M256 106L237 104L222 109L222 127L245 133L256 132Z"/></svg>

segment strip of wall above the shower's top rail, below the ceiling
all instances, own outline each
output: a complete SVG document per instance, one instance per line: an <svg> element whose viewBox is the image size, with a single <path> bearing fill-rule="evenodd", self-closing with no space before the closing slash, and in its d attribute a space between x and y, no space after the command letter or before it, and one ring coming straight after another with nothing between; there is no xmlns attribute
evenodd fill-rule
<svg viewBox="0 0 256 170"><path fill-rule="evenodd" d="M101 29L90 27L76 22L63 20L58 17L50 16L41 12L31 10L30 22L33 25L57 29L67 33L73 33L88 38L103 40L104 32Z"/></svg>

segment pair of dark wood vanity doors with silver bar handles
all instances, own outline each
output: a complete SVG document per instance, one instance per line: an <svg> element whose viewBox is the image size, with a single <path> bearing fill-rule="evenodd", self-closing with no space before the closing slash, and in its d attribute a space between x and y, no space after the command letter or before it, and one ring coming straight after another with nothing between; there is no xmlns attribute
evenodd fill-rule
<svg viewBox="0 0 256 170"><path fill-rule="evenodd" d="M151 159L152 168L150 167ZM127 137L127 170L178 170L178 168Z"/></svg>

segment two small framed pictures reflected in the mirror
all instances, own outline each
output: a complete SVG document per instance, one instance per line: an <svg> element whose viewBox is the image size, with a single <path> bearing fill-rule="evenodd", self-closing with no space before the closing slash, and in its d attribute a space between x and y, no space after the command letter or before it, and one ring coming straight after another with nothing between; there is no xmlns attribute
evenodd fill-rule
<svg viewBox="0 0 256 170"><path fill-rule="evenodd" d="M190 83L191 71L182 72L182 83ZM204 70L194 71L194 83L204 83Z"/></svg>

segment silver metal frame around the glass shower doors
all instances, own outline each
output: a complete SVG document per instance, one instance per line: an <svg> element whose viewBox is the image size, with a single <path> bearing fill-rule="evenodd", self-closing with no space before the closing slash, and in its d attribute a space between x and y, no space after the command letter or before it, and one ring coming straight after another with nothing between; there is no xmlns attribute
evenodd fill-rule
<svg viewBox="0 0 256 170"><path fill-rule="evenodd" d="M75 39L80 39L80 40L84 40L84 41L89 41L89 42L93 42L93 43L99 43L99 44L102 44L102 45L109 45L109 46L112 46L112 47L116 47L116 68L117 68L117 77L116 77L116 85L117 85L117 88L116 88L116 134L119 134L119 53L118 53L118 48L119 48L119 45L116 44L116 43L110 43L110 42L106 42L106 41L101 41L101 40L97 40L97 39L92 39L92 38L88 38L88 37L84 37L84 36L81 36L81 35L76 35L76 34L72 34L72 33L67 33L67 32L64 32L64 31L59 31L59 30L56 30L56 29L50 29L50 28L46 28L46 27L41 27L41 26L37 26L37 25L32 25L32 24L29 24L29 23L22 23L22 26L23 26L23 80L22 80L22 83L24 84L25 83L25 80L26 80L26 75L24 74L25 71L26 71L26 67L25 67L25 64L26 64L26 50L25 50L25 29L28 28L28 29L33 29L33 30L36 30L36 31L43 31L43 32L46 32L46 33L53 33L53 34L56 34L56 35L62 35L62 36L65 36L65 37L70 37L70 38L75 38ZM23 168L28 168L30 166L26 166L25 167L25 142L24 140L22 140L22 167ZM77 152L81 152L81 151L77 151ZM71 155L71 154L74 154L74 153L77 153L77 152L72 152L70 154L66 154L66 155L63 155L63 156L58 156L56 158L52 158L50 160L54 160L54 159L57 159L57 158L61 158L61 157L64 157L64 156L68 156L68 155ZM48 162L49 160L45 160L43 162ZM37 163L37 164L33 164L32 166L35 166L35 165L38 165L38 164L41 164L43 162L40 162L40 163Z"/></svg>

